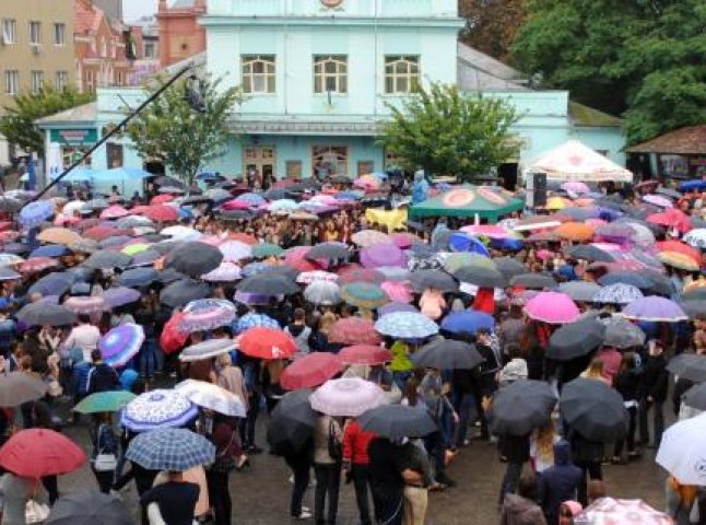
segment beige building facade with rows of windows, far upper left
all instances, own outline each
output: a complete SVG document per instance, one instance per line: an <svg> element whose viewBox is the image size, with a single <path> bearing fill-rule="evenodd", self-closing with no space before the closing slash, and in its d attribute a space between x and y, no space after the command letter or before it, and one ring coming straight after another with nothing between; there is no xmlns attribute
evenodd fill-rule
<svg viewBox="0 0 706 525"><path fill-rule="evenodd" d="M19 93L74 83L70 2L2 1L0 24L0 112ZM10 153L0 138L0 165L10 162Z"/></svg>

